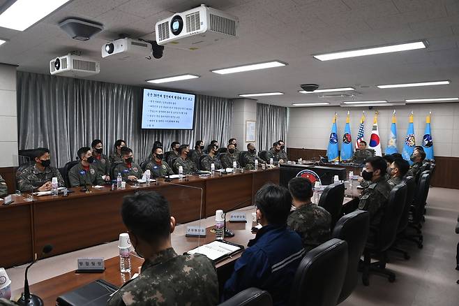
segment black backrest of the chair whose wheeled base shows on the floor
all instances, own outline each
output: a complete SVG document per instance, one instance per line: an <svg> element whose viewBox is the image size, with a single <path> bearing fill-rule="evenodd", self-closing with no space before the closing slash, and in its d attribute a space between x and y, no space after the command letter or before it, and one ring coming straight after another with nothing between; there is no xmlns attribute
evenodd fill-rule
<svg viewBox="0 0 459 306"><path fill-rule="evenodd" d="M406 199L407 185L405 183L393 187L387 199L386 207L383 207L383 215L378 228L377 249L379 251L389 249L396 240L398 224L405 208Z"/></svg>

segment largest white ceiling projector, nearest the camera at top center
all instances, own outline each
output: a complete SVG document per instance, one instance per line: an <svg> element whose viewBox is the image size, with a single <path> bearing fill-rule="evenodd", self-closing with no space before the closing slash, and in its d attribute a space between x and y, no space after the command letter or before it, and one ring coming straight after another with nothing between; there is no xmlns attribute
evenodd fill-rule
<svg viewBox="0 0 459 306"><path fill-rule="evenodd" d="M204 4L156 23L156 43L167 47L197 50L238 36L237 17Z"/></svg>

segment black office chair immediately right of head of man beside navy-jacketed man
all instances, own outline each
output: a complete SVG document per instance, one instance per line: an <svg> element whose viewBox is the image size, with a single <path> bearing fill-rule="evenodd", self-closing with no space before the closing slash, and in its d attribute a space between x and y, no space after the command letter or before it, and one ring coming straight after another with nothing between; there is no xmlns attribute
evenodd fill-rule
<svg viewBox="0 0 459 306"><path fill-rule="evenodd" d="M343 183L330 184L325 187L320 196L319 206L324 207L331 214L331 231L333 231L336 222L343 215L341 210L343 208L344 191L345 186Z"/></svg>

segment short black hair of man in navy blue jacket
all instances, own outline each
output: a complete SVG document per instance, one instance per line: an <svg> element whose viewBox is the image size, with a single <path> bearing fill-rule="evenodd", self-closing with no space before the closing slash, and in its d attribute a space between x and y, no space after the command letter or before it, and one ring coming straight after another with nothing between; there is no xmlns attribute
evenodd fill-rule
<svg viewBox="0 0 459 306"><path fill-rule="evenodd" d="M287 224L287 217L292 207L292 196L287 188L266 184L257 191L255 205L263 213L269 224Z"/></svg>

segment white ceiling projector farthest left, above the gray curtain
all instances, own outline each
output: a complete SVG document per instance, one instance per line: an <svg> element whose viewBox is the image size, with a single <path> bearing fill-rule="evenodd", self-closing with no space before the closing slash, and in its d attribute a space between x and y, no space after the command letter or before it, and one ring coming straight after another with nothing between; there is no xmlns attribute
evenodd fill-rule
<svg viewBox="0 0 459 306"><path fill-rule="evenodd" d="M50 61L50 73L82 78L100 72L100 63L78 55L68 54Z"/></svg>

